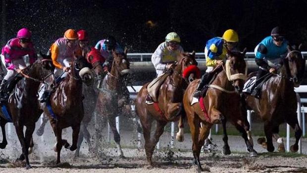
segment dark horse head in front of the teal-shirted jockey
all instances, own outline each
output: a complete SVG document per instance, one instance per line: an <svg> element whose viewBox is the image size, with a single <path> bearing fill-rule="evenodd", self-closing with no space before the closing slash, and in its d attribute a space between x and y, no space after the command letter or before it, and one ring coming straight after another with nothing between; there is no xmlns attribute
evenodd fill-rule
<svg viewBox="0 0 307 173"><path fill-rule="evenodd" d="M293 81L295 87L299 87L305 72L306 60L301 53L302 44L297 48L296 46L288 46L287 57L283 60L287 71L287 76Z"/></svg>

